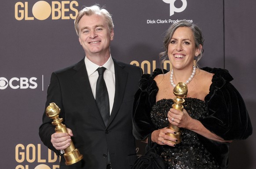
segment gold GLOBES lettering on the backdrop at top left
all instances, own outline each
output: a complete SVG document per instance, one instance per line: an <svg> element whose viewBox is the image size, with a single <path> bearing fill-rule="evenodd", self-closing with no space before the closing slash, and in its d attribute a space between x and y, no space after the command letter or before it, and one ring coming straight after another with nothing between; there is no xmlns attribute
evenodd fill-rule
<svg viewBox="0 0 256 169"><path fill-rule="evenodd" d="M73 1L52 1L51 4L44 0L36 2L34 5L28 2L17 2L15 4L15 19L21 20L45 20L50 17L57 19L75 19L78 14L78 2ZM32 12L32 13L31 13Z"/></svg>

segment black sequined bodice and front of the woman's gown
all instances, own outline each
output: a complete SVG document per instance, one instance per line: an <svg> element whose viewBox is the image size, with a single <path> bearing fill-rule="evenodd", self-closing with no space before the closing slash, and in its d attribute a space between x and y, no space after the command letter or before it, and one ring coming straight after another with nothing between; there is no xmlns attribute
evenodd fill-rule
<svg viewBox="0 0 256 169"><path fill-rule="evenodd" d="M162 99L156 102L150 113L156 128L168 127L167 112L172 108L172 99ZM193 119L208 116L204 101L186 98L184 109ZM182 141L176 147L158 145L157 153L164 158L167 169L219 169L215 159L199 141L197 134L191 130L182 130Z"/></svg>

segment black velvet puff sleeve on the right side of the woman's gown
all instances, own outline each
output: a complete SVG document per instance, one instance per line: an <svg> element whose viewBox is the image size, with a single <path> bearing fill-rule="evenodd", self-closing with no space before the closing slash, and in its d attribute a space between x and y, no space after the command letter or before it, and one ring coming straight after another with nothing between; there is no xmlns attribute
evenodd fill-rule
<svg viewBox="0 0 256 169"><path fill-rule="evenodd" d="M225 69L205 67L214 73L210 92L205 97L209 116L201 123L225 140L246 139L252 134L252 124L245 102L230 83L233 77Z"/></svg>

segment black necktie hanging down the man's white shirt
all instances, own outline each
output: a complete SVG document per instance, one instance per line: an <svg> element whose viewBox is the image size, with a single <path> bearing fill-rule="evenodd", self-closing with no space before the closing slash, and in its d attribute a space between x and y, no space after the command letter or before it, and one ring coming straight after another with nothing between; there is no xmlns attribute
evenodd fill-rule
<svg viewBox="0 0 256 169"><path fill-rule="evenodd" d="M106 88L106 83L103 78L103 73L106 70L105 67L99 67L98 69L99 77L96 84L96 104L98 106L99 112L102 116L102 119L107 126L109 117L110 117L110 101L109 95Z"/></svg>

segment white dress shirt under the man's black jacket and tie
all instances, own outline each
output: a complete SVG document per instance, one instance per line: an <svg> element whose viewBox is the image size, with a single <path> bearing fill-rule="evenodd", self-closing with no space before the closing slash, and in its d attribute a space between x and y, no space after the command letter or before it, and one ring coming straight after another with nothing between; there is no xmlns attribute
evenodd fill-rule
<svg viewBox="0 0 256 169"><path fill-rule="evenodd" d="M91 62L88 60L88 58L85 56L84 58L87 74L89 77L90 85L91 85L91 91L95 99L96 94L96 83L97 79L99 77L99 73L97 69L101 66ZM102 66L105 67L106 70L104 71L103 78L106 83L106 87L109 94L109 100L110 100L110 114L113 108L114 103L114 97L115 97L115 69L114 69L114 62L112 57L110 56L109 60L106 61L106 63Z"/></svg>

